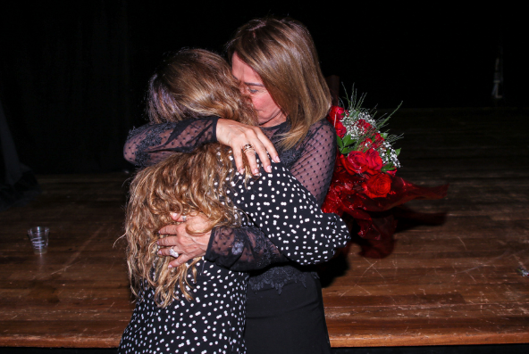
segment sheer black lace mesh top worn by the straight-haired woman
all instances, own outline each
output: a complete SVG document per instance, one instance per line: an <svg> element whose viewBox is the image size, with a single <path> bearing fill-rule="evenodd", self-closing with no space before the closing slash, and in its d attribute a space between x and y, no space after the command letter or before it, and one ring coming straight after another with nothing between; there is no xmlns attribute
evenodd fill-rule
<svg viewBox="0 0 529 354"><path fill-rule="evenodd" d="M197 146L216 142L217 118L184 120L176 123L146 125L133 129L125 143L125 158L139 167L164 160L172 152L191 152ZM313 124L296 147L281 149L281 135L289 131L284 122L262 128L278 149L281 162L290 173L315 196L321 207L329 188L336 157L336 138L332 125L325 119ZM291 281L305 283L315 276L281 255L281 250L256 227L215 227L206 251L206 259L222 267L252 271L249 285L254 291L281 287Z"/></svg>

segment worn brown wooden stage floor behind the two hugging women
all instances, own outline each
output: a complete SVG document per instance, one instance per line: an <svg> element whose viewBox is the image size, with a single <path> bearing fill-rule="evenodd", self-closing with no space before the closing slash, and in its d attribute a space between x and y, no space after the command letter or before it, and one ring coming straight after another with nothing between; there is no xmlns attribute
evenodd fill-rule
<svg viewBox="0 0 529 354"><path fill-rule="evenodd" d="M529 342L528 111L400 111L399 175L449 183L399 210L395 251L351 244L323 289L333 347ZM125 174L42 176L43 193L0 212L0 346L112 348L133 304L122 241ZM26 229L49 226L47 254ZM336 274L329 278L329 269Z"/></svg>

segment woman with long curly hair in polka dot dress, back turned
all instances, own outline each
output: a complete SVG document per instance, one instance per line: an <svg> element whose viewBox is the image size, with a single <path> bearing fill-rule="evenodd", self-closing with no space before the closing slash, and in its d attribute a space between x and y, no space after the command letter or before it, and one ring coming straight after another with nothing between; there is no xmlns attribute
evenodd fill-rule
<svg viewBox="0 0 529 354"><path fill-rule="evenodd" d="M149 81L147 101L149 118L156 123L200 123L212 115L256 121L229 65L204 50L184 50L166 60ZM248 273L204 257L169 268L170 258L159 257L157 243L164 237L158 230L174 224L172 213L209 220L189 228L189 235L244 227L244 236L225 232L220 239L232 245L230 254L239 262L262 267L286 259L321 262L347 241L345 224L334 214L323 214L282 163L262 169L260 177L252 177L248 161L244 166L235 168L229 147L206 144L194 152L172 153L134 177L125 235L137 304L120 353L246 352Z"/></svg>

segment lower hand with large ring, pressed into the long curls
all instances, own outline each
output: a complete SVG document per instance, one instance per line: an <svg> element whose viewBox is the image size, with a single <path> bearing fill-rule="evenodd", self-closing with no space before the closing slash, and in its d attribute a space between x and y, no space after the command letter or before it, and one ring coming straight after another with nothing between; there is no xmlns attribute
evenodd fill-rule
<svg viewBox="0 0 529 354"><path fill-rule="evenodd" d="M158 251L158 255L171 256L171 248L179 254L176 259L169 263L169 268L176 268L189 259L204 256L211 237L211 231L205 234L190 235L188 234L188 229L190 232L207 229L211 226L209 219L204 214L188 216L185 220L179 214L172 214L171 218L174 221L181 222L181 224L162 227L159 233L171 236L158 240L158 245L165 247Z"/></svg>

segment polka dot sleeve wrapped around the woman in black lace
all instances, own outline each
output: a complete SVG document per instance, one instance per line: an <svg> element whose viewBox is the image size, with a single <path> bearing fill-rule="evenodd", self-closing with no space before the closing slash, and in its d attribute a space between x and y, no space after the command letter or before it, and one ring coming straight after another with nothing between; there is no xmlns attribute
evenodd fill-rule
<svg viewBox="0 0 529 354"><path fill-rule="evenodd" d="M234 204L290 260L320 263L348 241L341 218L323 213L315 197L281 163L273 163L272 173L262 169L261 177L246 184L237 175L232 186Z"/></svg>

